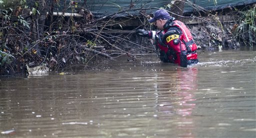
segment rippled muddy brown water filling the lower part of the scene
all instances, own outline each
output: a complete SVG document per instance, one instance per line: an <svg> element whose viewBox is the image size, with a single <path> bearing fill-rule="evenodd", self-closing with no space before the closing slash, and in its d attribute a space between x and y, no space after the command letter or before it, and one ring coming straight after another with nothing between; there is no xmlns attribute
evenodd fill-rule
<svg viewBox="0 0 256 138"><path fill-rule="evenodd" d="M0 78L0 137L256 137L256 52L155 55L66 75Z"/></svg>

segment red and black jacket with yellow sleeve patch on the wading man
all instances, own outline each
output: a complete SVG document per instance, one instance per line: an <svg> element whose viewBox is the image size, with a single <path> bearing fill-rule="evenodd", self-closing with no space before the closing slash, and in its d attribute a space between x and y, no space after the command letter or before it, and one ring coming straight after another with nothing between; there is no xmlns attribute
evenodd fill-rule
<svg viewBox="0 0 256 138"><path fill-rule="evenodd" d="M197 46L186 25L179 20L170 19L163 27L164 30L156 34L156 41L158 48L166 53L168 60L182 67L197 63Z"/></svg>

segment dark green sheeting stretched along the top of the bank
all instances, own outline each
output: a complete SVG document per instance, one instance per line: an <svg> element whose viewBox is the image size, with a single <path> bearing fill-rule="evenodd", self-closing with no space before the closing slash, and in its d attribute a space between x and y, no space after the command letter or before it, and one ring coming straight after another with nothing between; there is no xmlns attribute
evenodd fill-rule
<svg viewBox="0 0 256 138"><path fill-rule="evenodd" d="M29 0L28 0L29 1ZM153 7L164 7L171 0L73 0L77 1L78 5L83 5L83 8L88 8L94 17L103 17L105 15L117 13L122 10L127 10L130 7L130 2L133 2L131 9L140 8L143 5L143 8L152 8L147 9L146 13L154 13L156 9ZM247 5L256 3L256 0L216 0L217 3L214 4L214 0L189 0L190 2L194 2L195 4L207 9L207 10L218 10L224 9L227 7L239 6L239 5ZM146 4L145 4L146 3ZM64 8L63 0L59 1L58 9L54 9L54 11L62 12ZM70 0L66 0L67 8L65 12L71 12L70 8ZM74 8L73 12L78 12L79 7ZM193 8L188 4L185 4L184 13L192 12ZM114 17L121 17L121 16L129 16L129 15L139 15L138 11L128 11L122 12L119 14L115 14Z"/></svg>

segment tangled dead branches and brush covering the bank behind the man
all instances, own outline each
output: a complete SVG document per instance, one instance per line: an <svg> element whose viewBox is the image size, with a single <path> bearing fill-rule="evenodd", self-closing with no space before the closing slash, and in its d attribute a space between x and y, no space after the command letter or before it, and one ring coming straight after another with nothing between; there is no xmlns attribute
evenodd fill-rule
<svg viewBox="0 0 256 138"><path fill-rule="evenodd" d="M149 15L145 13L145 10L151 8L141 6L132 9L133 6L130 6L118 12L133 10L139 16L127 13L120 18L116 16L118 13L114 13L95 18L85 5L79 6L74 1L64 5L58 12L53 12L53 7L59 4L58 0L29 0L30 4L26 0L16 1L19 1L18 6L5 5L0 10L0 75L25 76L27 66L39 65L47 66L51 72L74 67L90 69L121 54L134 59L134 54L155 52L148 39L137 37L133 33L137 28L152 29L147 21ZM67 8L75 10L77 6L80 7L77 12L66 14ZM253 11L255 13L255 8ZM208 14L212 18L217 17L210 12ZM243 31L239 26L236 26L239 31L232 28L235 24L242 24L242 20L225 26L221 21L211 22L200 15L189 18L200 19L205 23L203 27L201 24L189 25L196 43L202 49L214 49L224 44L238 48L235 37L246 36L244 28L248 26L244 26ZM124 28L125 24L134 21L139 25ZM255 31L251 25L249 30L250 42L253 45Z"/></svg>

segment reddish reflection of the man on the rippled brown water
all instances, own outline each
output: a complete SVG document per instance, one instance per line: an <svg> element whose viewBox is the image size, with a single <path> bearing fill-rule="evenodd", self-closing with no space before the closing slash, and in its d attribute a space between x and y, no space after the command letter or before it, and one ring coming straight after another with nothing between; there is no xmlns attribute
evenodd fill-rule
<svg viewBox="0 0 256 138"><path fill-rule="evenodd" d="M197 68L176 68L175 71L160 73L168 77L167 82L155 83L158 119L170 119L172 125L183 131L181 137L194 137L194 120L189 117L195 108L194 92L197 89ZM163 91L162 89L166 89ZM177 116L178 114L178 116Z"/></svg>

